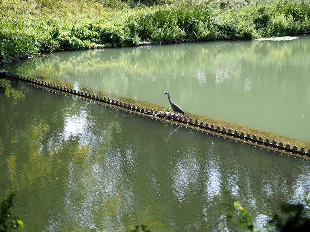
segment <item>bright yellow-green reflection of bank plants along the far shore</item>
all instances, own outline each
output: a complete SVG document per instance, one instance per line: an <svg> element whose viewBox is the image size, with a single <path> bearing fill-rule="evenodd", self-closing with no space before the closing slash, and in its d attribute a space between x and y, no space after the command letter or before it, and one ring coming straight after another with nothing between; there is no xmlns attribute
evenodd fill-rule
<svg viewBox="0 0 310 232"><path fill-rule="evenodd" d="M265 62L266 65L281 64L282 66L283 61L289 65L292 61L308 57L309 48L305 39L307 37L287 42L212 41L194 44L59 52L50 54L44 59L34 59L17 68L20 75L37 70L37 73L41 73L46 78L60 76L66 78L69 74L85 77L85 75L89 75L89 70L94 72L110 70L110 72L118 72L119 74L132 73L133 76L151 78L152 74L157 75L158 72L160 74L161 71L165 71L167 65L176 67L175 71L177 71L179 69L177 64L182 64L188 73L193 73L194 70L204 69L206 65L214 66L223 57L225 60L231 61L227 63L246 60L253 63L253 66L260 62ZM261 56L265 59L262 60ZM117 70L113 70L114 67L117 67ZM146 67L148 68L146 69ZM158 69L159 67L160 69Z"/></svg>

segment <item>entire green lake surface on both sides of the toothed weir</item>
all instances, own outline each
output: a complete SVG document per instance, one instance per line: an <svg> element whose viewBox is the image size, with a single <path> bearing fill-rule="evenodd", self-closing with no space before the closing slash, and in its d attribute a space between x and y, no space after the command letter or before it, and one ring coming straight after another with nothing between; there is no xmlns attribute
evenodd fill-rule
<svg viewBox="0 0 310 232"><path fill-rule="evenodd" d="M309 39L61 52L5 69L163 106L169 91L185 111L307 139ZM263 230L310 192L307 160L72 96L0 80L0 109L0 200L17 194L25 231L220 231L231 199Z"/></svg>

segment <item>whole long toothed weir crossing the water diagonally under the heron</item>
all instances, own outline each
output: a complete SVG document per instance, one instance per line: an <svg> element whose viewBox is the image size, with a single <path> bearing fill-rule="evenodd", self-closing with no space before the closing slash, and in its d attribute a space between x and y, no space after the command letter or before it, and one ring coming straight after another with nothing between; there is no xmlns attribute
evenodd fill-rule
<svg viewBox="0 0 310 232"><path fill-rule="evenodd" d="M250 133L245 133L243 131L239 132L237 130L232 130L231 128L226 129L225 127L221 127L219 125L209 125L209 123L204 123L203 121L199 122L198 120L176 115L170 112L163 112L157 110L154 111L153 109L136 106L135 104L122 102L99 95L95 96L95 94L88 94L87 92L84 93L83 91L80 92L79 90L77 91L72 88L59 86L53 83L47 83L38 79L21 77L15 74L8 73L6 71L0 70L0 78L5 78L15 82L21 81L33 86L49 89L54 92L62 92L68 95L77 96L82 99L97 102L102 105L109 105L113 108L119 108L125 111L134 112L135 114L147 116L152 119L155 118L157 120L169 121L171 123L185 126L187 128L202 131L203 133L210 133L219 137L229 138L237 142L240 141L242 143L248 143L261 148L273 150L275 152L281 152L310 160L310 149L306 151L304 147L298 148L296 145L291 146L289 143L284 144L282 141L277 142L276 140L271 140L269 138L264 139L262 136L257 136L255 134L250 135Z"/></svg>

